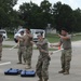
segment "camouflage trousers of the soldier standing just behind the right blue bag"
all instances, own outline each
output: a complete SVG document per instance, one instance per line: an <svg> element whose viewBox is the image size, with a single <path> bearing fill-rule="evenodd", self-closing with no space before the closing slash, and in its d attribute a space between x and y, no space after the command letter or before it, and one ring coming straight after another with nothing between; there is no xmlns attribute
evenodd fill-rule
<svg viewBox="0 0 81 81"><path fill-rule="evenodd" d="M32 56L32 46L25 46L24 50L24 59L26 60L26 64L31 66L31 56Z"/></svg>

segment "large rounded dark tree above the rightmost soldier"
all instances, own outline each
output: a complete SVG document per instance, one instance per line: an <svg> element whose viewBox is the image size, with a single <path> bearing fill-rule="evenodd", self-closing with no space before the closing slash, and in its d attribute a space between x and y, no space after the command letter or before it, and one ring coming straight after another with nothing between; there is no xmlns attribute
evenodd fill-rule
<svg viewBox="0 0 81 81"><path fill-rule="evenodd" d="M57 30L66 28L68 31L72 31L75 17L72 9L67 4L62 4L60 2L54 4L54 16L55 26Z"/></svg>

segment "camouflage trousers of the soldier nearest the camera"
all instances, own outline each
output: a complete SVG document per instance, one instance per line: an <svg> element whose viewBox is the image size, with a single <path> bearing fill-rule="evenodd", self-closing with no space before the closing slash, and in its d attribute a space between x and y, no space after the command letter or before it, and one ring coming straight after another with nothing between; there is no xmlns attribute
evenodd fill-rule
<svg viewBox="0 0 81 81"><path fill-rule="evenodd" d="M42 58L40 55L36 66L36 72L39 78L43 78L44 80L49 79L49 65L50 57Z"/></svg>

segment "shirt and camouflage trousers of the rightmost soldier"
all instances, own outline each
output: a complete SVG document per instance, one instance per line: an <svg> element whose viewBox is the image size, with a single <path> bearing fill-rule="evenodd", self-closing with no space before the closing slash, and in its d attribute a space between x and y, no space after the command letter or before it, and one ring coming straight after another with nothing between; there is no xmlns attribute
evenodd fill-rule
<svg viewBox="0 0 81 81"><path fill-rule="evenodd" d="M60 43L63 44L63 51L60 56L62 62L62 68L63 70L69 70L70 69L70 60L71 60L71 36L67 35L66 37L69 37L68 40L60 39Z"/></svg>

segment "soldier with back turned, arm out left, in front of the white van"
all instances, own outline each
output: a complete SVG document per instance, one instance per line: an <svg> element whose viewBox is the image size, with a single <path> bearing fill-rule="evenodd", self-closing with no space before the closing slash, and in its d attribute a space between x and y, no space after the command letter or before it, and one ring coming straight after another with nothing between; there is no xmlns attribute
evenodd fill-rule
<svg viewBox="0 0 81 81"><path fill-rule="evenodd" d="M24 40L24 59L26 60L26 69L31 68L31 56L32 56L32 35L30 32L30 29L26 29L26 35L24 37L21 37L21 39Z"/></svg>

